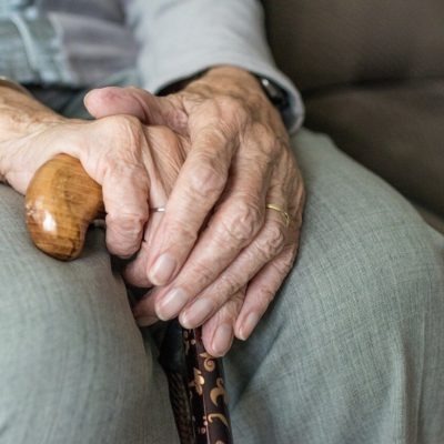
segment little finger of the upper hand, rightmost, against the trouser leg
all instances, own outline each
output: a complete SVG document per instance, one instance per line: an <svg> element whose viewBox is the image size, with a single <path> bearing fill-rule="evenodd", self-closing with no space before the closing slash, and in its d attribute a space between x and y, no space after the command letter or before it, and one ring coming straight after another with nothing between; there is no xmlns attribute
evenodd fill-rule
<svg viewBox="0 0 444 444"><path fill-rule="evenodd" d="M235 322L235 336L246 341L273 301L285 276L293 266L296 246L289 246L251 281L242 310Z"/></svg>

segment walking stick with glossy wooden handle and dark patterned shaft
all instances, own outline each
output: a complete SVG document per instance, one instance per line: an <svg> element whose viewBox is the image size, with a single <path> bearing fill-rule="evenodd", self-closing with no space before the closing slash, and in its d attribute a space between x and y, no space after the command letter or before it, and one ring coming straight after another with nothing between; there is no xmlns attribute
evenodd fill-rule
<svg viewBox="0 0 444 444"><path fill-rule="evenodd" d="M37 171L26 196L32 241L62 261L80 255L89 224L103 213L100 185L67 154L59 154ZM169 380L181 443L232 444L222 360L206 353L201 329L185 330L173 321L161 346L160 362Z"/></svg>

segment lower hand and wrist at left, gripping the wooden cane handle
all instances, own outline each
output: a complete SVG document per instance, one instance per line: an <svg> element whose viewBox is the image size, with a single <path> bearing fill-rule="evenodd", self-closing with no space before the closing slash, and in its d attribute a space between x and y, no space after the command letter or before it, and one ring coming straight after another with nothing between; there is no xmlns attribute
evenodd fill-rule
<svg viewBox="0 0 444 444"><path fill-rule="evenodd" d="M122 258L135 253L149 205L167 202L183 163L180 138L129 115L65 119L19 92L0 90L0 179L24 194L36 171L57 154L79 159L102 185L109 251Z"/></svg>

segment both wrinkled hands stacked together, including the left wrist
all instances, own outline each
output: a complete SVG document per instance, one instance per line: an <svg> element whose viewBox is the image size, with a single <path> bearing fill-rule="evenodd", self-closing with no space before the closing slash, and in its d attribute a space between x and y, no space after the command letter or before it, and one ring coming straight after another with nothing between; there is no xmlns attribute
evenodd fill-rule
<svg viewBox="0 0 444 444"><path fill-rule="evenodd" d="M234 68L167 98L94 90L85 105L98 120L68 120L0 88L0 179L24 193L56 154L80 159L103 188L109 251L138 252L125 280L154 285L138 322L203 324L206 349L223 355L234 335L250 336L297 251L304 188L280 115ZM265 203L285 209L290 226Z"/></svg>

